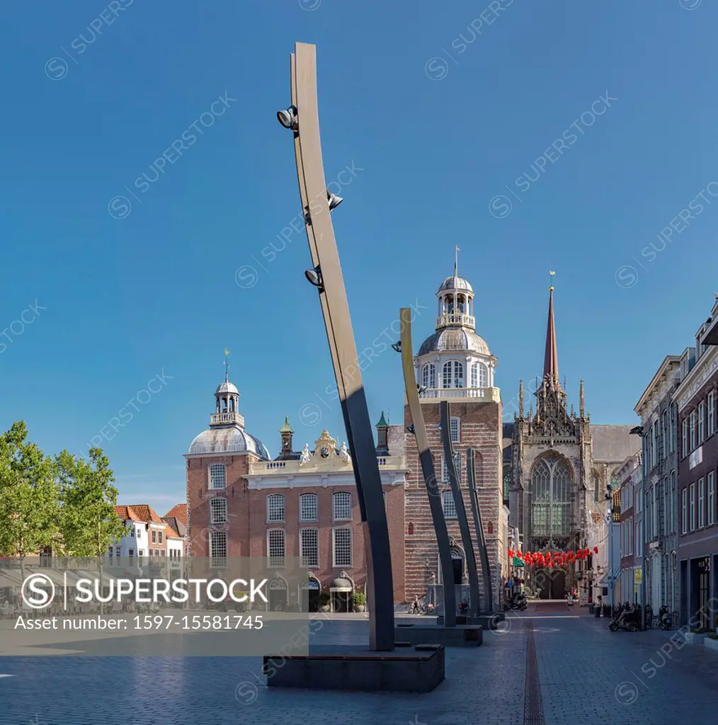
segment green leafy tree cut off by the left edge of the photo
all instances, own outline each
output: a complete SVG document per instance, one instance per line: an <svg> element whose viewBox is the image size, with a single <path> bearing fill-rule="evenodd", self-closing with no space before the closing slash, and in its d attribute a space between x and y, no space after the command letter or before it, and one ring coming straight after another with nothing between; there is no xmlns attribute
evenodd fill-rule
<svg viewBox="0 0 718 725"><path fill-rule="evenodd" d="M28 442L23 421L0 436L0 554L38 556L51 546L58 530L58 487L54 466L38 446Z"/></svg>

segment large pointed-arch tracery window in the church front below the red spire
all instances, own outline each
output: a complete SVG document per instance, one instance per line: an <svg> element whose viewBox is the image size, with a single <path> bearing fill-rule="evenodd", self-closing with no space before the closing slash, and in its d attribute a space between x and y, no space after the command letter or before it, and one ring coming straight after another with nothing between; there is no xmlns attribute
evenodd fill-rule
<svg viewBox="0 0 718 725"><path fill-rule="evenodd" d="M537 460L531 477L531 530L534 536L571 533L571 468L557 455Z"/></svg>

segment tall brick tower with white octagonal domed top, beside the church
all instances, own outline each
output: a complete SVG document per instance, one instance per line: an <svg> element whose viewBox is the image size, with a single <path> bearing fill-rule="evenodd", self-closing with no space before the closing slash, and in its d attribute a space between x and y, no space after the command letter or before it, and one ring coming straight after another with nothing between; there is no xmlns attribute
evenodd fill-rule
<svg viewBox="0 0 718 725"><path fill-rule="evenodd" d="M476 334L474 289L469 281L458 276L457 268L455 259L453 275L441 283L436 293L436 330L424 340L414 358L416 380L426 434L434 458L434 470L439 481L438 491L432 493L441 496L449 536L453 539L453 583L466 581L466 552L461 543L455 502L444 460L439 425L443 400L450 404L450 436L457 458L464 506L469 512L471 502L467 489L466 456L469 448L474 450L476 490L487 539L492 586L494 592L497 592L501 577L507 573L501 571L500 552L506 550L505 531L508 526L501 483L501 399L500 390L494 381L497 358L491 354L487 342ZM410 426L412 422L408 406L405 406L405 426ZM413 573L407 582L407 594L411 598L426 592L432 582L441 583L442 573L416 439L410 432L405 436L405 450L410 471L405 489L405 518L408 521L405 566L407 572Z"/></svg>

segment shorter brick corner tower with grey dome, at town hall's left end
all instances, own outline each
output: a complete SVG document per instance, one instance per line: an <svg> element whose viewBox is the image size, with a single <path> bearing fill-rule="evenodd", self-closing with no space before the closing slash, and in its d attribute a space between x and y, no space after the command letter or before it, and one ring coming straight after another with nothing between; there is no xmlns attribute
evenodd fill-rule
<svg viewBox="0 0 718 725"><path fill-rule="evenodd" d="M190 552L211 558L218 568L228 557L249 556L249 544L238 534L249 526L246 476L250 460L270 457L265 444L244 428L239 390L229 381L228 368L225 360L210 427L191 442L185 455Z"/></svg>

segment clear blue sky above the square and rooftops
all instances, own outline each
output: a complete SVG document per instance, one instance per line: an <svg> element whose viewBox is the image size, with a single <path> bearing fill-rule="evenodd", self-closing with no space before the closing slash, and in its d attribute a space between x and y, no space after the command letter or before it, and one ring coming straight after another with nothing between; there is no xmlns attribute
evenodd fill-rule
<svg viewBox="0 0 718 725"><path fill-rule="evenodd" d="M299 212L291 136L275 120L297 40L318 46L326 178L355 168L333 219L358 347L417 301L428 309L415 336L431 334L458 244L508 402L540 372L556 270L571 399L584 378L595 423L636 422L653 372L690 344L718 291L718 183L703 191L718 182L716 4L305 8L4 7L0 329L12 341L0 337L0 427L24 418L44 450L86 452L155 378L159 392L102 445L121 500L165 513L183 500L182 455L207 426L228 347L247 428L273 455L284 415L297 448L325 426L344 439L304 233L269 260ZM583 123L592 104L600 115ZM643 250L661 249L657 235L701 193L710 203L674 221L681 231L649 259ZM512 210L498 218L502 194ZM125 218L110 214L130 208L116 196L131 202ZM235 281L242 265L257 270L251 289ZM36 302L46 309L11 330ZM379 354L364 379L373 420L384 409L399 421L398 356ZM300 415L309 403L306 421L321 412L313 426Z"/></svg>

